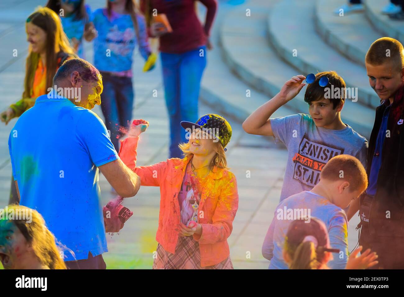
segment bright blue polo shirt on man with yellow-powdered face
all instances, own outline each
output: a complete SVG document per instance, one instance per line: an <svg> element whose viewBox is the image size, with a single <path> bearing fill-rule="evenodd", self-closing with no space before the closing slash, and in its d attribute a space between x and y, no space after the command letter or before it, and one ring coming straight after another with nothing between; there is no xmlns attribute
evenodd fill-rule
<svg viewBox="0 0 404 297"><path fill-rule="evenodd" d="M20 204L36 209L65 246L65 261L108 251L98 166L117 160L103 121L64 97L42 95L8 138ZM75 258L68 251L72 250Z"/></svg>

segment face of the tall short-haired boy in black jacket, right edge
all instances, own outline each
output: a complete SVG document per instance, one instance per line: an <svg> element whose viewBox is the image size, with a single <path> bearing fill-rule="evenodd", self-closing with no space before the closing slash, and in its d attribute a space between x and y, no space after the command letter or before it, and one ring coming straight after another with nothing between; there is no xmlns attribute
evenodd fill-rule
<svg viewBox="0 0 404 297"><path fill-rule="evenodd" d="M366 71L370 86L381 100L394 98L397 90L403 85L403 71L398 70L392 63L366 63Z"/></svg>

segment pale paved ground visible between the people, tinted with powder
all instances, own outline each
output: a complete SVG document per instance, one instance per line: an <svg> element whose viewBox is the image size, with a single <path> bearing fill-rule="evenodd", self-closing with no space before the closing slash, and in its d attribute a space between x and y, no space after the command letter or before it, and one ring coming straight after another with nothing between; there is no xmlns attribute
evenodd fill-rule
<svg viewBox="0 0 404 297"><path fill-rule="evenodd" d="M4 0L0 4L0 107L5 108L20 98L23 85L23 70L27 42L23 21L33 9L43 4L39 0ZM98 8L97 0L87 1ZM235 1L233 4L235 4ZM238 1L243 2L243 1ZM103 4L103 3L101 3ZM222 6L221 6L222 7ZM229 7L225 7L230 9ZM13 49L18 56L13 57ZM91 45L86 44L91 57ZM88 59L90 62L91 58ZM209 53L208 53L209 63ZM143 74L143 61L136 54L134 65L135 106L133 118L149 120L150 127L139 143L138 164L148 165L165 160L168 156L168 119L160 75L160 65L153 72ZM215 64L209 64L209 71ZM231 88L231 86L229 86ZM152 97L153 90L158 96ZM102 118L101 110L94 110ZM216 113L215 105L200 105L200 115ZM261 255L261 244L267 227L279 201L286 164L286 150L264 137L247 135L239 122L230 120L233 137L229 143L227 158L231 171L236 174L240 205L234 221L234 230L229 238L230 255L237 269L265 269L269 261ZM15 120L8 126L0 124L0 207L8 200L11 179L11 164L7 139ZM44 127L46 128L46 127ZM51 139L48 139L51 143ZM250 177L247 177L248 171ZM112 194L111 187L100 176L102 203ZM159 189L142 187L137 196L128 198L124 204L134 212L120 234L108 235L109 252L104 255L108 268L151 268L157 242ZM353 224L356 225L356 224ZM349 232L353 230L350 227ZM357 234L350 232L350 244L356 244ZM250 258L246 255L250 252Z"/></svg>

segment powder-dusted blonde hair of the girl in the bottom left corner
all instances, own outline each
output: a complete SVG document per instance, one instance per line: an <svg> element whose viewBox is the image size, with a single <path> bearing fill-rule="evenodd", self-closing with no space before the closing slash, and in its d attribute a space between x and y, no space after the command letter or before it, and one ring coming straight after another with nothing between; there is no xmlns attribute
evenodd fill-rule
<svg viewBox="0 0 404 297"><path fill-rule="evenodd" d="M53 236L46 227L42 215L40 215L38 211L22 205L12 204L7 207L8 210L13 209L15 213L32 212L31 223L21 219L15 219L13 223L23 234L25 240L31 244L40 263L48 266L50 269L66 269L65 262L59 255L59 250L55 243L55 236Z"/></svg>

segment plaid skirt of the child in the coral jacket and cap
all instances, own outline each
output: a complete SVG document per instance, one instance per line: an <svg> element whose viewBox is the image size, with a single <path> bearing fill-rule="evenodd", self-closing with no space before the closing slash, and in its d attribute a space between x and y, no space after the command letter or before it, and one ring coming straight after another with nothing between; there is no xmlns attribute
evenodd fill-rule
<svg viewBox="0 0 404 297"><path fill-rule="evenodd" d="M230 256L215 265L201 267L199 243L192 236L178 238L175 254L168 253L160 243L156 252L153 269L234 269Z"/></svg>

